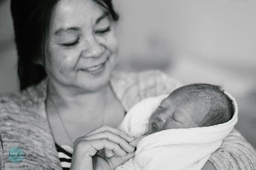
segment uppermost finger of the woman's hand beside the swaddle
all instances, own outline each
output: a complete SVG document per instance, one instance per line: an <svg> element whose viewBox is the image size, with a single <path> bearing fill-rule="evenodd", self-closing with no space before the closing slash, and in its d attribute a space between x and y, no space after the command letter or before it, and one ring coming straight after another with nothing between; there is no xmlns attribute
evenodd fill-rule
<svg viewBox="0 0 256 170"><path fill-rule="evenodd" d="M133 136L129 136L124 131L116 129L116 128L113 128L113 127L109 127L107 125L103 125L102 127L99 127L96 130L91 131L90 133L88 133L85 136L91 136L93 134L104 132L104 131L110 131L110 132L120 136L121 138L125 139L127 142L133 142L134 141L134 137Z"/></svg>

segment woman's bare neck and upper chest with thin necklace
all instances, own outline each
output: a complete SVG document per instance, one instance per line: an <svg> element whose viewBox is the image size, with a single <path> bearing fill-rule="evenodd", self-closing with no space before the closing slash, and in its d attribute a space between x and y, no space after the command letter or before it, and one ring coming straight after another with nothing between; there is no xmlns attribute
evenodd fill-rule
<svg viewBox="0 0 256 170"><path fill-rule="evenodd" d="M124 116L110 85L100 91L75 95L49 81L46 110L54 139L59 144L72 144L70 139L77 139L102 125L117 127Z"/></svg>

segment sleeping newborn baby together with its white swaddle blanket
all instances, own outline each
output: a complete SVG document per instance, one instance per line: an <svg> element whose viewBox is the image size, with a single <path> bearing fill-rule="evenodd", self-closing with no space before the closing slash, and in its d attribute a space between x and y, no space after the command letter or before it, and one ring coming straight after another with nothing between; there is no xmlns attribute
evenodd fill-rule
<svg viewBox="0 0 256 170"><path fill-rule="evenodd" d="M137 150L116 170L201 170L237 122L236 101L219 86L191 84L164 97L126 114L119 128L137 137Z"/></svg>

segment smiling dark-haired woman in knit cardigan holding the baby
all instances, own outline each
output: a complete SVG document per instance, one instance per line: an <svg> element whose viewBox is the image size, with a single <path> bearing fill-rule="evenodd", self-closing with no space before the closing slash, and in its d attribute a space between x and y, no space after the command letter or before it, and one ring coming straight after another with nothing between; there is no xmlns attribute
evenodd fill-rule
<svg viewBox="0 0 256 170"><path fill-rule="evenodd" d="M159 71L113 72L118 15L111 0L12 0L11 9L22 91L0 98L0 167L113 170L133 157L134 138L113 127L136 102L179 83ZM13 147L25 153L19 163L10 159ZM56 147L73 149L71 164ZM95 156L102 149L116 156ZM250 170L255 162L253 147L233 130L203 170Z"/></svg>

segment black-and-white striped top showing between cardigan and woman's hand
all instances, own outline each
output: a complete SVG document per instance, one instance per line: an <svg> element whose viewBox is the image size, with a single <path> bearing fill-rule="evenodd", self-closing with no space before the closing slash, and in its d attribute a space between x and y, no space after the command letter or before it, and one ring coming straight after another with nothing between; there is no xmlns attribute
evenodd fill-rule
<svg viewBox="0 0 256 170"><path fill-rule="evenodd" d="M68 152L67 150L64 150L61 146L55 143L58 157L61 161L61 167L63 170L69 170L72 160L72 153Z"/></svg>

